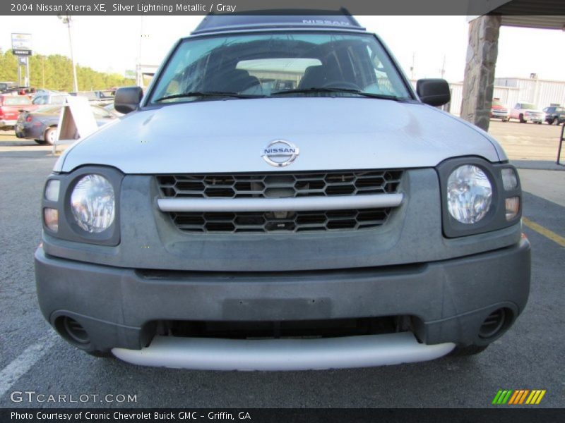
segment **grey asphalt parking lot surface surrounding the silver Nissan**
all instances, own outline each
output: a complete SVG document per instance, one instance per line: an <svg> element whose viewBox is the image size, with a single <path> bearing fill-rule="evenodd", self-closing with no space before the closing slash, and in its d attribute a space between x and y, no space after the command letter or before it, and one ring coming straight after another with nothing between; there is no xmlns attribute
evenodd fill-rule
<svg viewBox="0 0 565 423"><path fill-rule="evenodd" d="M545 132L536 131L557 127L492 126L505 134L532 131L528 139L519 138L521 157L550 161L549 149L547 157L537 157L535 142ZM524 143L532 146L532 157ZM499 389L523 388L547 390L538 407L565 407L565 248L528 226L524 232L533 257L528 306L505 336L475 357L366 369L201 372L85 355L54 334L35 296L32 258L41 238L40 197L55 161L49 150L0 133L0 407L491 407ZM564 175L521 172L524 187L532 191L524 194L524 216L561 239ZM66 395L66 402L25 396L13 402L18 391ZM70 396L81 395L88 401L69 403ZM119 395L136 401L118 402Z"/></svg>

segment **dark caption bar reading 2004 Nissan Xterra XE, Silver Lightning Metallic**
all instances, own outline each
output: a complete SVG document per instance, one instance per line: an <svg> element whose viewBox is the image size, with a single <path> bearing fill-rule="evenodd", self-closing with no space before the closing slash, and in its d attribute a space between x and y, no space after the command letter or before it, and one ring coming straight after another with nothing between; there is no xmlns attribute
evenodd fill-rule
<svg viewBox="0 0 565 423"><path fill-rule="evenodd" d="M229 6L229 7L228 7ZM264 13L315 15L320 10L352 15L480 16L565 15L563 0L3 0L1 15L207 15ZM306 9L306 10L305 10ZM331 12L335 11L335 12Z"/></svg>

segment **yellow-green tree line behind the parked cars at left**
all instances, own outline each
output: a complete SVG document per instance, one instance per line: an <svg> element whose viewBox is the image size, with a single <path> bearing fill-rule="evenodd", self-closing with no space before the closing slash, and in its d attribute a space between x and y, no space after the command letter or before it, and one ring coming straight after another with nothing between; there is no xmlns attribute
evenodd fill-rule
<svg viewBox="0 0 565 423"><path fill-rule="evenodd" d="M113 87L132 85L118 73L103 73L91 68L76 66L79 91L107 90ZM18 81L18 58L12 51L0 50L0 81ZM60 54L30 56L30 85L47 90L73 91L73 64L71 59Z"/></svg>

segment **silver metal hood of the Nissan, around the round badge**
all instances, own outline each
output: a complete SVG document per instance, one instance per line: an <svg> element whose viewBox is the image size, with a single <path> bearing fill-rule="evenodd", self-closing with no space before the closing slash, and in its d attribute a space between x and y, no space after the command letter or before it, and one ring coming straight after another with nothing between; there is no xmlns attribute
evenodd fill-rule
<svg viewBox="0 0 565 423"><path fill-rule="evenodd" d="M299 157L263 160L273 140ZM431 106L358 97L227 99L134 112L76 142L55 171L85 164L124 173L322 171L436 166L457 156L505 159L487 133Z"/></svg>

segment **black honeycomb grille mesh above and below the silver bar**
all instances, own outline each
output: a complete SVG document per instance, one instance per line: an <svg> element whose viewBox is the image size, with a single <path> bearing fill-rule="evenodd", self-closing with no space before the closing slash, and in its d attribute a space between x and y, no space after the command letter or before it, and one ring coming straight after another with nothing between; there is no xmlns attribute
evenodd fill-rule
<svg viewBox="0 0 565 423"><path fill-rule="evenodd" d="M398 191L402 171L164 175L157 183L165 198L287 198L375 195ZM391 208L307 212L170 212L188 233L351 231L386 222Z"/></svg>

